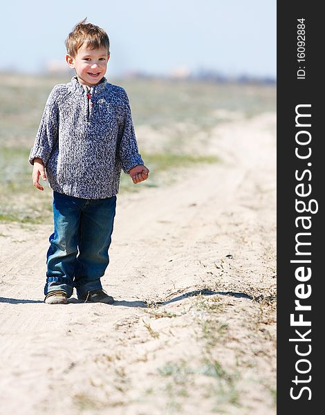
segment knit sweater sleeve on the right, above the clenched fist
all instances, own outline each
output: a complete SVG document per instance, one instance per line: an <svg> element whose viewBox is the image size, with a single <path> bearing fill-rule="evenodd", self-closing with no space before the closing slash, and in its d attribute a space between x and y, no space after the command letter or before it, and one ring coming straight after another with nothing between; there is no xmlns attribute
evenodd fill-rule
<svg viewBox="0 0 325 415"><path fill-rule="evenodd" d="M120 160L124 173L129 173L132 167L143 165L143 160L138 151L136 133L134 132L131 108L127 93L124 92L124 114L119 130L120 136Z"/></svg>

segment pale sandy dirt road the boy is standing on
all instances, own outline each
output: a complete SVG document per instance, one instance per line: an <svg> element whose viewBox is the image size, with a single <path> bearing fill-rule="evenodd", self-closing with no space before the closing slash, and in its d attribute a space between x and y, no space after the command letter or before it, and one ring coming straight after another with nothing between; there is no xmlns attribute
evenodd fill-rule
<svg viewBox="0 0 325 415"><path fill-rule="evenodd" d="M0 414L275 414L275 122L119 196L111 306L44 304L52 226L0 225Z"/></svg>

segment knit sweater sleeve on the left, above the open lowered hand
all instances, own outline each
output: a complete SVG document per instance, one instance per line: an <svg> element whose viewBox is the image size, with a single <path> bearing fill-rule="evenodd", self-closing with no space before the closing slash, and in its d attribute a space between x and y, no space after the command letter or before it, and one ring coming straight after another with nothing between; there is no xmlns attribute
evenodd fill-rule
<svg viewBox="0 0 325 415"><path fill-rule="evenodd" d="M34 164L34 158L41 158L44 165L48 163L50 154L57 144L59 133L59 111L57 105L58 88L55 86L48 96L34 146L30 150L29 162Z"/></svg>

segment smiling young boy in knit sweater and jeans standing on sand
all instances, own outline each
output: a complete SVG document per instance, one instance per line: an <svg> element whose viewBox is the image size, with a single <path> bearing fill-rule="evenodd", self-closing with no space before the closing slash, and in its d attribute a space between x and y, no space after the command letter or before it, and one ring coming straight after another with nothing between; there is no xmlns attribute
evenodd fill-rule
<svg viewBox="0 0 325 415"><path fill-rule="evenodd" d="M84 19L66 50L76 75L51 91L29 158L35 187L44 190L41 176L53 189L44 301L66 304L75 287L85 302L111 304L100 277L109 264L121 169L135 184L149 169L138 153L127 93L104 77L106 32Z"/></svg>

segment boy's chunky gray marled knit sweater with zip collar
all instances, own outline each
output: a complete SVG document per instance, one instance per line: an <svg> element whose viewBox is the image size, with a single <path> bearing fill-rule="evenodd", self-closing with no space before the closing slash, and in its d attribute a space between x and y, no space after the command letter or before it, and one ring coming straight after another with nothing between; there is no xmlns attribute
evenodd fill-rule
<svg viewBox="0 0 325 415"><path fill-rule="evenodd" d="M53 190L84 199L118 193L121 169L143 165L127 93L106 78L87 92L73 77L55 85L29 161L41 158Z"/></svg>

